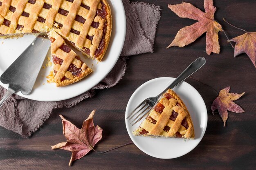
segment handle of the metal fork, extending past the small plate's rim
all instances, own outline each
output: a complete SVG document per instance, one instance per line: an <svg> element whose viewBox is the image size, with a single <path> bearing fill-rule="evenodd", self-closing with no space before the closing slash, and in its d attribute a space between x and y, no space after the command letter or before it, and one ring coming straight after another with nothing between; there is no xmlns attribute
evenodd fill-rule
<svg viewBox="0 0 256 170"><path fill-rule="evenodd" d="M204 57L199 57L198 59L196 59L193 63L191 63L174 81L173 83L168 86L164 91L162 91L162 93L160 93L158 97L160 97L164 92L166 92L169 88L174 88L175 86L177 86L178 84L180 84L181 82L183 82L186 78L188 78L189 76L191 76L193 73L195 73L196 71L198 71L204 64L205 64L206 60Z"/></svg>

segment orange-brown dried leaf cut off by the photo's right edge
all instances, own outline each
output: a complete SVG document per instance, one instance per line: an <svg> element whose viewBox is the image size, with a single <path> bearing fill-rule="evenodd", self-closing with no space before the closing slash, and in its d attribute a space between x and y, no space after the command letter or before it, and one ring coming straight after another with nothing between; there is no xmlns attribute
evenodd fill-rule
<svg viewBox="0 0 256 170"><path fill-rule="evenodd" d="M234 57L246 53L256 67L256 32L245 33L228 40L230 41L236 42Z"/></svg>

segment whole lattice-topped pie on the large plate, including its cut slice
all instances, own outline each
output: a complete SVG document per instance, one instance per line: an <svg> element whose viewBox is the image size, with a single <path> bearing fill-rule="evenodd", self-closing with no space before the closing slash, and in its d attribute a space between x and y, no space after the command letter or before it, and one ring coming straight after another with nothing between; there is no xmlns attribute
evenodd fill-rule
<svg viewBox="0 0 256 170"><path fill-rule="evenodd" d="M92 72L64 39L101 61L111 31L106 0L0 0L0 38L48 33L57 86L72 84Z"/></svg>

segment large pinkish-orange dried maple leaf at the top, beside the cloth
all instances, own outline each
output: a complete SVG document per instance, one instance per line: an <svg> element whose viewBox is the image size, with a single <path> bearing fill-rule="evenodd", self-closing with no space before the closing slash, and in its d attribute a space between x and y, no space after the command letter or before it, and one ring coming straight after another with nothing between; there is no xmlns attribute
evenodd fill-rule
<svg viewBox="0 0 256 170"><path fill-rule="evenodd" d="M198 20L198 22L180 29L173 42L167 48L171 46L186 46L206 32L206 53L208 55L211 52L220 53L218 32L222 31L222 27L214 20L216 7L213 6L213 0L204 0L205 13L186 2L176 5L169 4L168 8L181 18L190 18Z"/></svg>

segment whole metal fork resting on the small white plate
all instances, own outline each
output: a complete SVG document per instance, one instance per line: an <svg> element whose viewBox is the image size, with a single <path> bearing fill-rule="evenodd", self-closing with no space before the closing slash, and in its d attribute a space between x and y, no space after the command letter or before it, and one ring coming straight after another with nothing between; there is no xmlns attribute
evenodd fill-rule
<svg viewBox="0 0 256 170"><path fill-rule="evenodd" d="M148 113L150 112L151 108L153 108L153 106L155 106L155 104L158 102L159 99L162 98L162 95L164 94L164 92L166 92L169 88L174 88L175 86L177 86L178 84L180 84L181 82L183 82L186 78L188 78L189 76L191 76L193 73L195 73L196 71L198 71L204 64L205 64L205 58L204 57L199 57L198 59L196 59L194 62L192 62L172 83L170 86L168 86L166 89L164 89L164 91L162 91L159 95L157 95L156 97L149 97L147 99L145 99L143 102L141 102L141 104L139 104L139 106L137 106L132 113L130 113L130 115L128 115L128 117L126 119L129 119L128 121L131 120L130 124L132 122L134 122L132 124L132 126L134 124L136 124L138 121L140 121L143 117L145 117L146 115L148 115ZM136 116L137 115L137 116ZM136 117L135 117L136 116ZM135 118L134 118L135 117ZM134 119L132 119L134 118Z"/></svg>

